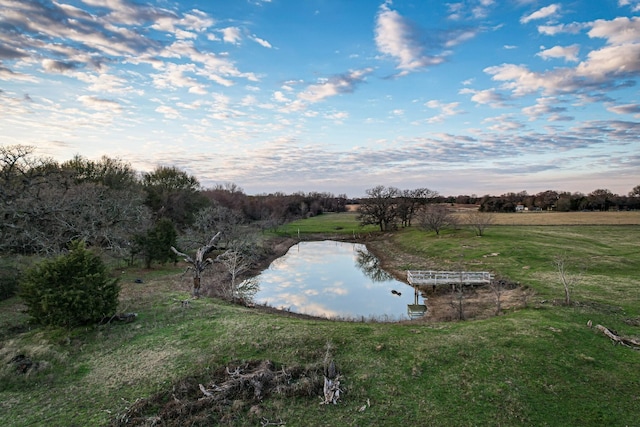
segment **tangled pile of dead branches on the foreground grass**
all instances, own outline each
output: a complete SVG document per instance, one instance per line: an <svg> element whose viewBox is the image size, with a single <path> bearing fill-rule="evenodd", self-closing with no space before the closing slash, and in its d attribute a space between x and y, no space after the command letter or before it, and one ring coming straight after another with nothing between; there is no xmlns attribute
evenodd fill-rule
<svg viewBox="0 0 640 427"><path fill-rule="evenodd" d="M333 388L323 389L325 373L332 371ZM220 367L206 378L186 378L171 390L139 399L111 426L183 426L225 424L237 417L255 417L262 426L285 425L277 417L262 413L261 403L271 397L312 397L325 394L326 403L336 403L339 381L335 364L278 366L269 360L238 362ZM203 381L204 380L204 381ZM251 409L249 409L251 408ZM243 413L246 412L246 413Z"/></svg>

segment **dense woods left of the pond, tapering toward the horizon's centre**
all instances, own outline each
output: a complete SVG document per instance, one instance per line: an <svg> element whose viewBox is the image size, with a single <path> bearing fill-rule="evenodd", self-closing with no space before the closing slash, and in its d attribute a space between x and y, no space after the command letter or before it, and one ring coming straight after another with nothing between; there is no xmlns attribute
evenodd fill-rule
<svg viewBox="0 0 640 427"><path fill-rule="evenodd" d="M107 156L57 162L34 151L0 146L0 253L57 254L82 240L148 265L175 259L170 246L189 250L216 231L230 244L247 227L276 229L348 202L320 192L247 195L231 183L204 188L174 166L138 172Z"/></svg>

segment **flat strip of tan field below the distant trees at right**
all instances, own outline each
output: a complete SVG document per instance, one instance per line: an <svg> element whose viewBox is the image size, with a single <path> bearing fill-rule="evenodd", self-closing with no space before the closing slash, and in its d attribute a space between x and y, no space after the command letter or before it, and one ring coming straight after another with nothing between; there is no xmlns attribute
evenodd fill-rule
<svg viewBox="0 0 640 427"><path fill-rule="evenodd" d="M521 212L493 215L496 225L640 225L640 211Z"/></svg>

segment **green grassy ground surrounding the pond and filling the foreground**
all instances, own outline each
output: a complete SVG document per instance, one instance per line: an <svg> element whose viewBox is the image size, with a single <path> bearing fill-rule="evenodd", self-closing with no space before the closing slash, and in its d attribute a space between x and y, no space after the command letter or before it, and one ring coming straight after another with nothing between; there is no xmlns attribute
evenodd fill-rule
<svg viewBox="0 0 640 427"><path fill-rule="evenodd" d="M288 227L314 236L373 231L349 214ZM494 226L481 238L407 229L384 242L394 269L463 264L535 295L526 308L484 320L346 323L206 298L183 307L181 268L127 271L121 307L138 313L132 323L42 329L26 323L19 300L0 302L0 424L107 425L144 403L146 425L178 404L193 411L184 425L637 425L640 352L586 324L640 337L640 227ZM587 266L571 306L553 303L562 289L549 260L560 252ZM338 405L319 405L315 388L260 401L238 395L222 409L186 406L202 397L185 394L187 385L210 385L220 369L268 359L313 370L327 353L342 373ZM19 354L37 368L16 372L10 360Z"/></svg>

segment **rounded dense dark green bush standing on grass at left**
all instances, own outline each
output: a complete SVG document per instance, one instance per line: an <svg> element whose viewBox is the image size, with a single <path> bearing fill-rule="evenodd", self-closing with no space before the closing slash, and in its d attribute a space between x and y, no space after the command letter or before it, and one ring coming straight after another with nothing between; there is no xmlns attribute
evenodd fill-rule
<svg viewBox="0 0 640 427"><path fill-rule="evenodd" d="M44 325L76 326L115 314L120 286L84 242L69 253L28 270L20 295L33 319Z"/></svg>

